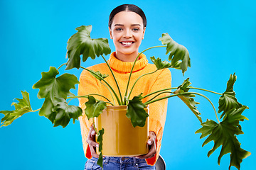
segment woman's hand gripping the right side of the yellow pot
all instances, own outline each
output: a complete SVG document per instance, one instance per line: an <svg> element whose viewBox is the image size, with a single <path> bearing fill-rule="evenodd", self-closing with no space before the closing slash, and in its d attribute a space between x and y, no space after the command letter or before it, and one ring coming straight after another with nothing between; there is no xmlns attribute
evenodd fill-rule
<svg viewBox="0 0 256 170"><path fill-rule="evenodd" d="M154 157L156 154L156 134L154 132L149 132L149 140L147 141L149 145L149 153L137 156L139 159L148 159Z"/></svg>

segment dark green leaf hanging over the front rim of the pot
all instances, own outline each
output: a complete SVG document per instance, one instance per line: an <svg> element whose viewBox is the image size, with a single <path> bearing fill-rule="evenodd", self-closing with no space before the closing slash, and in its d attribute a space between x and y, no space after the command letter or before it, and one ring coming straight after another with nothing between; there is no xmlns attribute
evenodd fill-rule
<svg viewBox="0 0 256 170"><path fill-rule="evenodd" d="M131 120L133 127L144 127L146 118L149 116L144 108L146 108L146 105L142 103L142 94L129 100L126 116Z"/></svg>

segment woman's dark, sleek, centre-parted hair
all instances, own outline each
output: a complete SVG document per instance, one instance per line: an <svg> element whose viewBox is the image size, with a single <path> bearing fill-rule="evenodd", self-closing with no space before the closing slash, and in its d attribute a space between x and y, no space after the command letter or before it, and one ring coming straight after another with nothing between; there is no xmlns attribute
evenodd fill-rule
<svg viewBox="0 0 256 170"><path fill-rule="evenodd" d="M145 16L145 13L142 11L142 9L139 8L139 7L136 6L136 5L133 5L133 4L123 4L123 5L117 6L116 8L114 8L114 9L111 11L111 13L110 13L110 19L109 19L109 27L110 27L110 28L111 28L111 25L112 25L114 16L115 16L117 13L122 12L122 11L131 11L131 12L137 13L139 16L142 17L142 20L143 20L143 27L146 27L146 16Z"/></svg>

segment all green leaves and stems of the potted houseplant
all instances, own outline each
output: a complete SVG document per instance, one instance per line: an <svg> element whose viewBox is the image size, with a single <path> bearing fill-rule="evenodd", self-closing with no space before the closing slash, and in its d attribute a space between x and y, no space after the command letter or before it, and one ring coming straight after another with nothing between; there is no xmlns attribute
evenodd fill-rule
<svg viewBox="0 0 256 170"><path fill-rule="evenodd" d="M100 72L94 72L80 65L81 57L83 62L86 62L88 57L91 57L92 60L96 57L102 57L102 59L107 63L104 55L109 55L111 52L108 40L106 38L90 38L92 26L80 26L79 28L76 28L76 30L78 30L78 33L72 35L68 40L68 62L62 64L60 67L66 65L65 69L85 69L95 78L99 79L101 83L105 84L105 86L107 86L110 90L113 99L112 101L115 99L119 106L127 106L127 118L131 120L131 123L134 127L144 126L146 117L149 116L146 111L144 111L146 105L166 98L178 96L196 115L196 118L198 118L202 125L202 128L197 130L196 133L201 133L201 138L208 136L205 142L203 142L203 146L212 140L214 142L213 149L210 149L208 152L208 157L215 151L215 149L221 146L220 155L218 157L218 164L220 164L220 159L224 154L230 153L229 169L231 166L235 166L237 169L240 169L242 159L248 157L250 152L247 152L240 147L240 142L236 136L243 133L240 121L247 120L247 118L242 115L242 112L245 111L245 109L248 107L239 103L237 98L235 98L235 91L233 91L233 86L237 78L235 74L230 75L226 91L223 94L193 87L191 86L189 79L186 79L183 81L181 86L172 88L170 87L169 89L159 89L159 91L155 91L147 95L138 94L138 96L131 98L130 95L134 85L141 77L148 76L149 74L153 74L160 69L166 68L181 69L182 74L184 74L187 68L191 67L190 57L186 47L179 45L177 42L172 40L167 33L164 33L162 34L161 38L159 38L162 45L149 47L146 50L150 50L156 47L166 47L166 55L169 55L169 61L163 61L160 58L156 58L154 56L150 57L151 61L156 65L156 70L139 77L137 81L134 82L132 88L128 89L129 80L130 77L132 77L131 70L129 79L127 81L126 92L124 96L122 96L117 81L116 86L118 91L114 91L112 86L110 86L110 84L108 84L108 82L105 80L106 77L114 77L113 73L112 75L107 75ZM142 52L145 52L146 50ZM135 60L135 62L136 61L137 60ZM108 63L107 66L110 68ZM0 111L0 113L4 114L4 118L1 119L1 123L3 124L1 126L10 125L14 120L16 120L16 118L21 117L21 115L25 113L39 111L39 115L43 115L48 118L53 123L54 127L61 125L63 128L65 128L72 118L73 122L75 123L75 120L78 120L78 117L82 115L82 109L80 107L70 106L68 104L69 101L73 100L74 98L87 98L87 102L85 103L85 114L87 115L88 119L97 118L107 107L107 105L114 106L115 103L112 103L109 98L105 98L105 96L101 96L100 94L88 94L87 96L75 96L72 94L70 89L75 89L75 84L79 84L78 78L75 77L75 75L68 73L59 75L58 70L60 67L58 67L58 69L55 67L50 67L48 72L42 72L42 78L33 85L33 89L39 89L38 98L45 98L43 106L38 110L32 110L29 101L29 94L26 91L21 91L23 98L16 98L18 103L12 103L12 105L15 106L14 111ZM111 68L110 71L112 72ZM172 92L172 89L175 89L176 91ZM218 113L215 111L215 107L210 99L203 94L191 91L191 89L208 91L210 93L220 95L220 99L218 101L218 113L221 113L220 120L218 118ZM164 93L169 94L169 96L159 97L159 95ZM105 98L105 101L98 100L97 97L99 96ZM203 96L210 102L215 111L217 122L214 120L206 120L206 122L202 121L201 113L196 108L196 105L199 103L194 100L195 96ZM149 97L150 99L145 103L142 103L142 99L146 97ZM95 124L93 123L93 125ZM101 151L102 135L104 135L104 129L97 130L95 128L95 130L97 132L97 142L100 143L100 159L97 164L102 166Z"/></svg>

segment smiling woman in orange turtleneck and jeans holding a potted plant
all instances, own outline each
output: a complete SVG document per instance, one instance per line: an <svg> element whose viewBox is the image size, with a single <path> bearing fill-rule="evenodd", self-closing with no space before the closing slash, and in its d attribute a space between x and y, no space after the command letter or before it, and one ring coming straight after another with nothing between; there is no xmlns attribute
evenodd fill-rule
<svg viewBox="0 0 256 170"><path fill-rule="evenodd" d="M110 13L109 30L110 38L114 42L116 51L112 52L108 63L117 78L121 93L124 94L129 72L139 54L139 45L144 39L146 16L138 6L128 4L117 6ZM89 69L111 75L105 63L97 64L89 67ZM130 84L133 84L142 74L152 72L155 69L154 64L148 63L145 55L140 55L134 67ZM107 77L106 80L110 82L111 86L116 87L112 77ZM149 77L142 77L134 87L132 96L137 96L141 93L146 95L151 91L169 87L171 87L171 73L169 69L162 69ZM100 81L92 77L89 72L82 72L78 95L83 96L94 93L111 98L109 91ZM99 99L104 100L104 98ZM85 101L85 98L80 98L80 107L85 108L83 104ZM146 101L146 98L144 98L144 101ZM103 169L155 169L154 164L159 156L161 137L164 130L167 100L152 103L149 108L149 140L147 142L149 153L138 157L105 157ZM98 147L98 144L95 142L95 130L92 128L92 121L87 120L85 114L83 114L80 117L80 125L85 156L89 158L92 156L92 159L89 159L85 164L85 169L100 169L100 166L97 165L98 155L95 153L95 147Z"/></svg>

